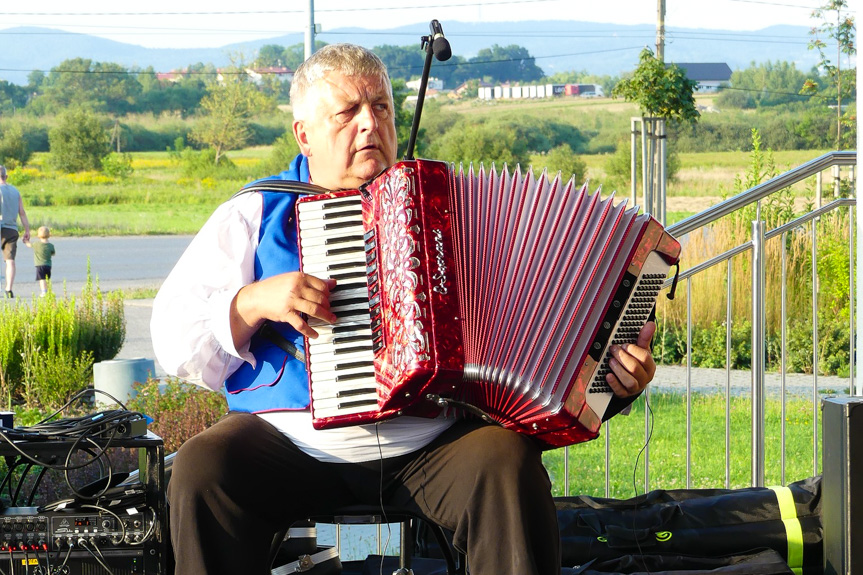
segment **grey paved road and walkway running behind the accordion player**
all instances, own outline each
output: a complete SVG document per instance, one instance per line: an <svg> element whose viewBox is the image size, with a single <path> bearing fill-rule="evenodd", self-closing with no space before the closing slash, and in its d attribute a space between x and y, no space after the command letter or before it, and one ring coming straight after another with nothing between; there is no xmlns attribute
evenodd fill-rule
<svg viewBox="0 0 863 575"><path fill-rule="evenodd" d="M159 287L191 239L191 236L59 238L55 242L57 256L54 261L54 282L60 286L65 281L71 293L79 293L87 277L89 258L93 277L99 279L103 290ZM29 298L38 292L36 283L31 281L33 268L28 265L32 261L29 257L29 250L19 246L19 271L15 286L19 297ZM126 342L117 356L119 359L154 358L150 341L152 306L151 299L126 301ZM158 362L156 375L165 376ZM724 369L695 368L691 371L690 387L695 391L724 392L728 378ZM685 367L661 366L653 388L684 392L686 381ZM731 392L735 395L748 394L750 381L748 371L733 371L730 374ZM785 385L790 393L811 396L815 380L812 375L789 374ZM778 393L781 386L779 376L768 374L766 386L768 393ZM847 378L819 376L817 379L817 387L822 392L847 393L848 386Z"/></svg>

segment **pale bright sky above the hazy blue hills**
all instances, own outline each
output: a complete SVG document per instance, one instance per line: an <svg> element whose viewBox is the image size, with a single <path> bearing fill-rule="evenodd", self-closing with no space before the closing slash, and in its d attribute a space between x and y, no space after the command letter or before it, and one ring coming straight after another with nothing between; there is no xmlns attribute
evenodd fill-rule
<svg viewBox="0 0 863 575"><path fill-rule="evenodd" d="M33 0L4 9L0 31L18 26L92 34L149 48L214 48L302 33L310 0ZM777 24L812 27L826 0L665 0L666 30L759 30ZM857 10L863 0L850 0ZM11 4L11 1L9 2ZM314 0L321 40L341 27L391 28L446 23L577 20L656 26L659 0ZM422 8L421 6L426 6ZM2 38L2 36L0 36Z"/></svg>

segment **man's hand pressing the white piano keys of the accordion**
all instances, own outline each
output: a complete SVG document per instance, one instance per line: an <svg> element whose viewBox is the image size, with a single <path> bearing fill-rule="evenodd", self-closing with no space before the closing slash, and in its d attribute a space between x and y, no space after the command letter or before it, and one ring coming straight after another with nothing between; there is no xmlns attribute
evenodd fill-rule
<svg viewBox="0 0 863 575"><path fill-rule="evenodd" d="M290 324L301 334L315 338L318 332L303 319L336 321L330 311L330 290L336 280L322 280L302 272L279 274L244 286L231 305L231 333L240 349L267 320Z"/></svg>

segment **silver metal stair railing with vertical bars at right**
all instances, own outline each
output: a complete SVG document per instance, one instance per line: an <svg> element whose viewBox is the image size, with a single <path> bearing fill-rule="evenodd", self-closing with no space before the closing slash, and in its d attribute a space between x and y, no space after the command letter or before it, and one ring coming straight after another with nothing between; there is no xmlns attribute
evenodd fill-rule
<svg viewBox="0 0 863 575"><path fill-rule="evenodd" d="M753 486L762 486L765 481L765 402L766 402L766 393L765 393L765 373L767 371L766 361L765 361L765 342L767 338L766 325L765 325L765 308L766 308L766 284L765 284L765 271L767 266L767 261L765 258L765 244L771 239L778 238L778 241L781 242L781 256L780 256L780 266L781 270L779 275L781 277L782 284L782 293L781 293L781 311L780 311L780 323L781 323L781 350L780 350L780 370L779 370L779 394L781 397L781 430L779 432L780 435L780 452L781 452L781 482L785 484L786 476L785 476L785 468L786 468L786 458L785 458L785 440L786 440L786 330L785 326L787 324L788 316L786 311L786 292L785 288L787 285L787 276L786 276L786 252L785 245L787 243L788 235L799 233L802 229L809 230L811 234L811 270L812 270L812 310L811 310L811 323L812 323L812 383L811 383L811 399L812 399L812 474L817 475L819 472L819 424L818 424L818 412L819 412L819 387L818 387L818 350L819 350L819 330L818 330L818 245L817 245L817 225L818 222L824 217L826 214L834 212L839 209L847 209L848 214L848 237L849 237L849 270L848 270L848 278L849 278L849 292L850 292L850 346L848 356L850 358L851 364L849 365L849 373L850 373L850 381L848 393L849 395L854 394L854 371L855 366L854 362L854 341L855 341L855 318L854 318L854 301L855 301L855 270L854 270L854 262L855 262L855 243L854 243L854 209L856 206L856 200L854 198L841 198L838 197L840 195L840 167L847 166L850 167L848 170L848 179L851 184L853 184L854 179L854 166L857 164L857 153L853 151L843 151L843 152L830 152L815 158L814 160L807 162L797 168L789 170L769 181L766 181L758 186L755 186L749 190L746 190L736 196L728 198L713 207L695 214L691 217L688 217L674 225L671 225L667 228L668 232L681 240L681 243L685 244L687 234L692 234L693 232L701 232L704 233L704 230L709 230L709 226L721 218L733 214L739 210L747 208L755 204L756 207L756 220L752 222L752 231L751 231L751 239L749 241L745 241L740 243L739 245L725 251L722 254L709 257L704 261L697 263L690 263L690 267L688 269L682 269L678 275L678 293L681 291L685 292L686 297L686 376L685 376L685 399L684 405L686 410L686 487L691 486L691 461L693 456L693 447L692 447L692 397L693 397L693 366L692 366L692 354L693 354L693 342L692 342L692 281L693 278L699 276L704 273L706 270L713 268L715 266L719 266L725 264L726 266L726 357L725 357L725 394L726 394L726 413L725 413L725 484L726 487L729 487L731 484L730 479L730 444L732 440L731 433L731 416L730 416L730 398L731 398L731 325L733 323L732 318L732 261L734 258L740 257L743 254L750 255L751 261L751 294L752 294L752 358L751 358L751 383L749 393L751 394L751 484ZM833 170L833 196L835 199L830 201L829 203L822 205L823 203L823 194L822 194L822 173L825 170L832 169ZM782 190L785 190L789 186L792 186L798 182L802 182L808 178L815 177L815 200L814 200L814 208L807 214L794 219L793 221L789 221L787 223L783 223L778 225L777 227L766 230L765 222L761 218L761 201L765 198L768 198L771 194L775 194ZM850 186L853 189L853 185ZM691 262L691 259L689 260ZM670 287L672 283L672 279L666 281L664 287ZM682 298L680 298L682 299ZM661 319L661 318L660 318ZM656 380L655 380L656 382ZM649 398L650 391L645 393L645 396ZM651 414L649 410L645 410L645 448L644 448L644 490L648 491L651 485L651 468L650 468L650 452L648 450L649 447L649 436L651 433L652 425L650 421ZM610 491L611 485L611 465L610 465L610 440L611 437L611 427L610 422L606 422L604 425L604 433L605 436L605 496L611 497L614 496ZM721 449L723 446L716 446L717 449ZM564 448L564 486L563 492L566 494L570 494L570 448ZM793 478L802 479L799 477ZM665 486L662 486L665 487Z"/></svg>

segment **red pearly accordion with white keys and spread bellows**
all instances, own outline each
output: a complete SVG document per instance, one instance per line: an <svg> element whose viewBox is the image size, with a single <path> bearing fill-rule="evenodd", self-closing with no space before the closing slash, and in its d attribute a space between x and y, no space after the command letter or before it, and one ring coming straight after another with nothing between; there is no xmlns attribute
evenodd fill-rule
<svg viewBox="0 0 863 575"><path fill-rule="evenodd" d="M482 414L560 447L597 436L608 349L633 342L680 245L560 176L412 160L297 202L302 271L339 318L306 341L316 428Z"/></svg>

